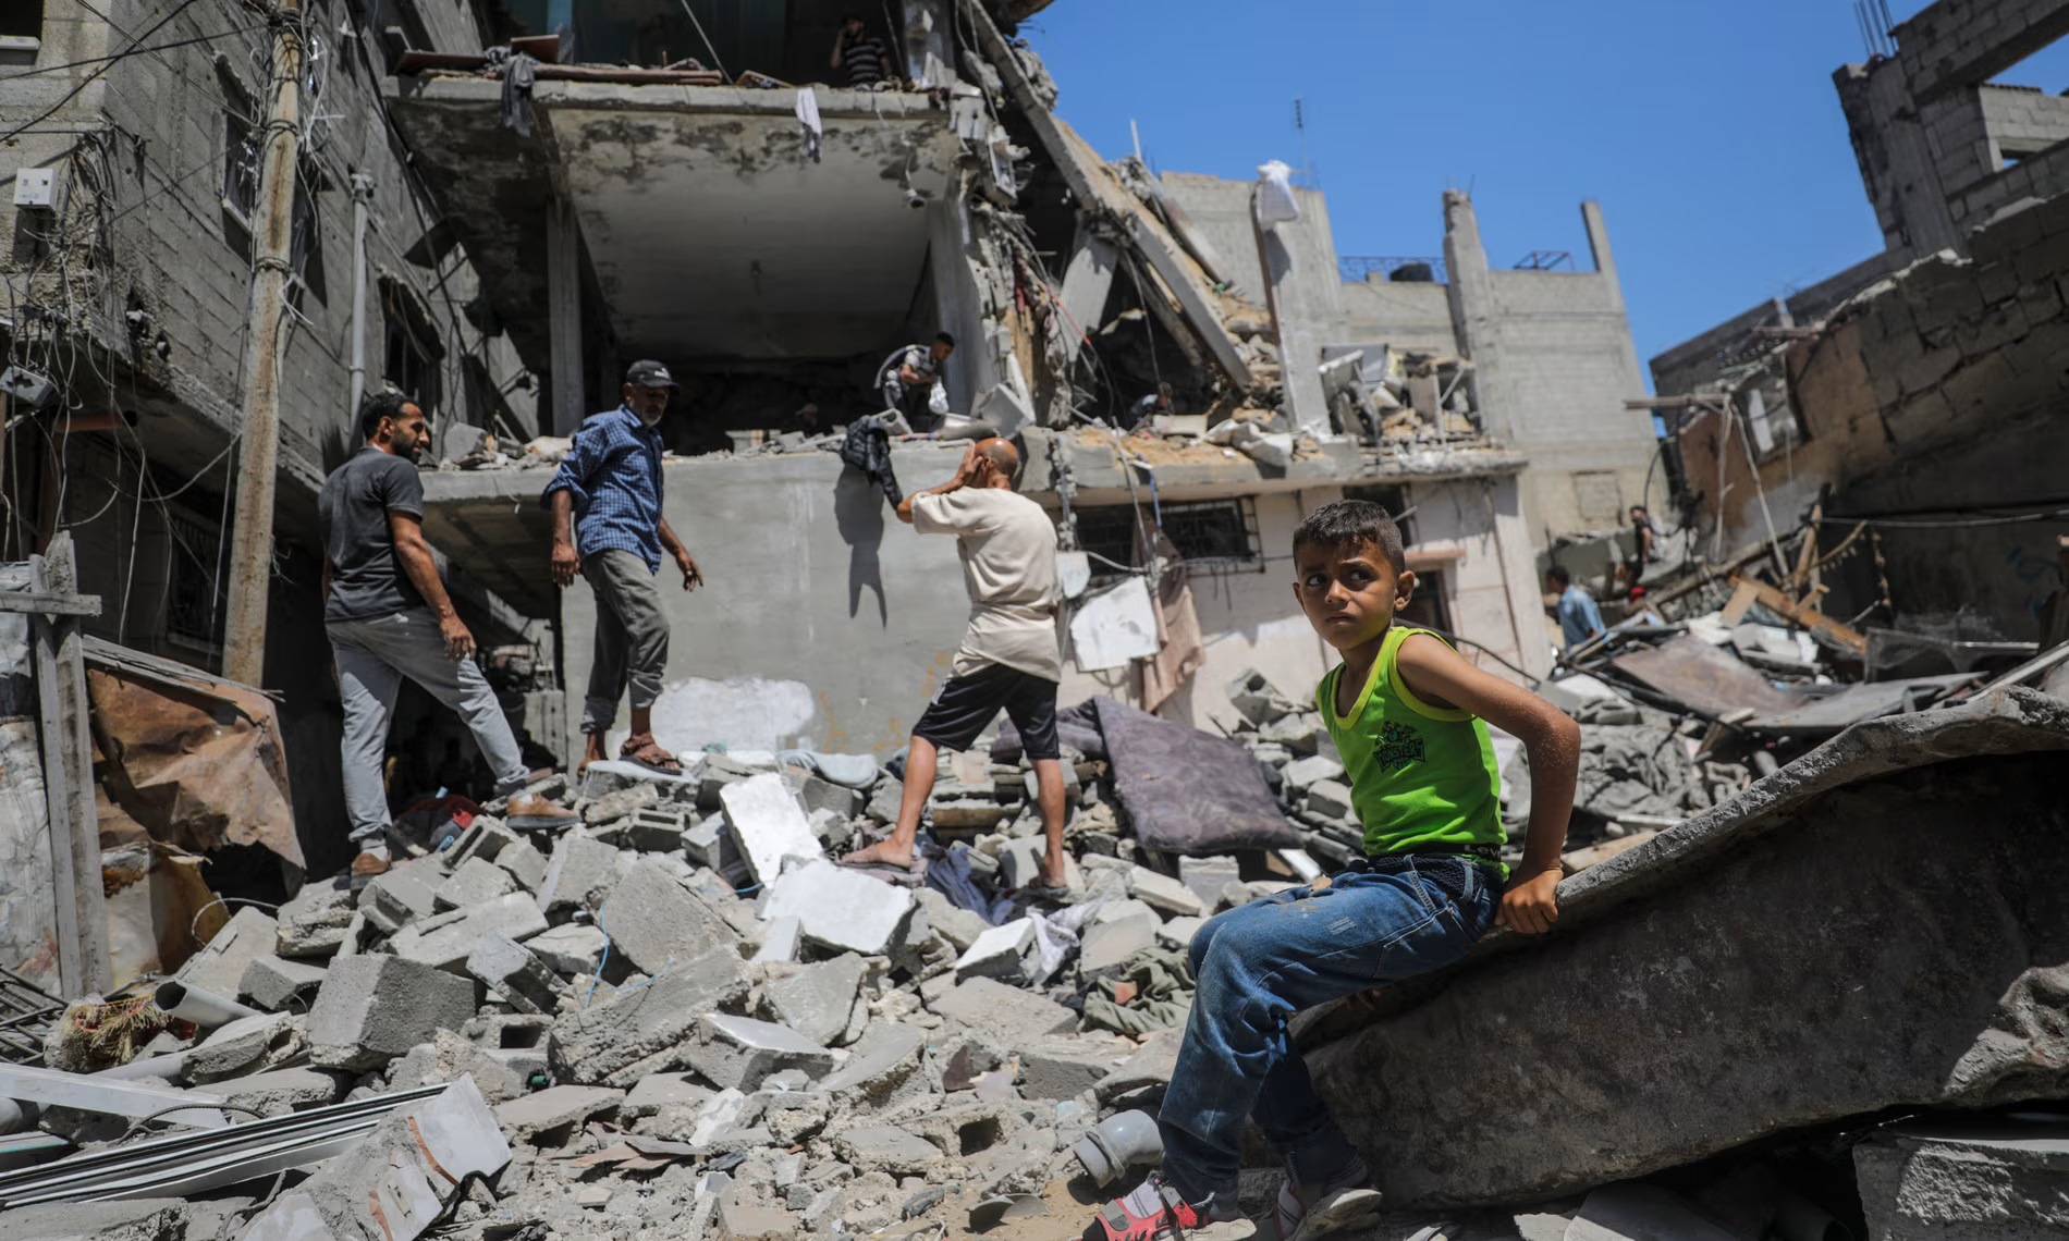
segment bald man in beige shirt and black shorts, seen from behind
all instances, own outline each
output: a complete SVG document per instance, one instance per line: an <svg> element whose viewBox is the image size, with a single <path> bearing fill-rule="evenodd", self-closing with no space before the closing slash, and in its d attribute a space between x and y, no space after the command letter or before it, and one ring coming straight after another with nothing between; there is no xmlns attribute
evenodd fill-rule
<svg viewBox="0 0 2069 1241"><path fill-rule="evenodd" d="M987 438L970 445L954 478L898 503L898 519L921 534L956 536L962 585L970 592L970 631L956 649L948 685L912 726L898 827L890 840L848 854L848 862L910 867L919 815L933 792L935 759L943 749L968 749L1003 709L1034 763L1049 838L1039 887L1063 887L1063 763L1055 740L1055 687L1063 678L1063 654L1055 639L1055 523L1041 505L1014 492L1018 476L1020 453L1001 438Z"/></svg>

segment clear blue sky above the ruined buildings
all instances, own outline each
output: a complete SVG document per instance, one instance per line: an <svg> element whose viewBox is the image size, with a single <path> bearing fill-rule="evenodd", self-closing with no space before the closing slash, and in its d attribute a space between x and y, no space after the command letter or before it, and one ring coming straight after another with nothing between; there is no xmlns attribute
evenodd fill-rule
<svg viewBox="0 0 2069 1241"><path fill-rule="evenodd" d="M1891 0L1897 21L1924 4ZM1055 0L1022 33L1103 155L1308 161L1339 254L1438 254L1471 188L1488 259L1572 250L1595 199L1641 364L1881 248L1831 85L1852 0ZM2063 91L2069 41L2001 81Z"/></svg>

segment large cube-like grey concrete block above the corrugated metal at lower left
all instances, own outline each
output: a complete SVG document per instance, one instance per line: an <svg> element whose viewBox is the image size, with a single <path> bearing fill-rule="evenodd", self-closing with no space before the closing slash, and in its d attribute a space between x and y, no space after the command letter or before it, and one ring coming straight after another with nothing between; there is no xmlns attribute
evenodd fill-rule
<svg viewBox="0 0 2069 1241"><path fill-rule="evenodd" d="M472 1018L474 978L399 956L346 958L331 966L308 1009L308 1061L321 1069L377 1069Z"/></svg>

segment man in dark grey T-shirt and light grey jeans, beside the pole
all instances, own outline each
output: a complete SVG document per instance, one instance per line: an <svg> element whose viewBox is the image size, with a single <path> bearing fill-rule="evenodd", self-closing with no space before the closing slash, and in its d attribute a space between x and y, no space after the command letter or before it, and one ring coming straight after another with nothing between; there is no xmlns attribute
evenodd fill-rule
<svg viewBox="0 0 2069 1241"><path fill-rule="evenodd" d="M509 796L517 827L565 827L569 811L526 794L530 769L503 705L474 666L474 635L439 581L424 542L424 482L416 459L430 441L424 412L399 393L360 403L364 447L323 482L323 627L337 660L346 707L341 757L346 813L360 852L352 877L389 869L389 807L383 782L389 714L401 678L422 685L459 712L494 769L497 796Z"/></svg>

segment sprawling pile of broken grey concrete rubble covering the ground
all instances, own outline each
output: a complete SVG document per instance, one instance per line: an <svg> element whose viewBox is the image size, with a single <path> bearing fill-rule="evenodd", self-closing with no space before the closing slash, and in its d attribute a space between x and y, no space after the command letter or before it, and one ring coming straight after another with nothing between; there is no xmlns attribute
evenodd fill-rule
<svg viewBox="0 0 2069 1241"><path fill-rule="evenodd" d="M1744 778L1606 685L1548 693L1589 738L1575 867ZM389 873L240 908L176 976L68 1005L43 1067L0 1065L0 1233L91 1235L60 1204L112 1200L163 1216L137 1235L254 1241L1082 1210L1074 1177L1155 1160L1130 1125L1169 1082L1202 920L1359 852L1314 705L1258 672L1229 699L1231 736L1111 699L1061 714L1070 883L1041 902L1010 726L939 759L910 871L834 860L894 821L902 759L811 751L594 763L534 786L577 811L561 834L490 803L441 848L399 838ZM1527 769L1500 743L1521 838Z"/></svg>

